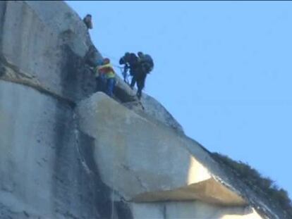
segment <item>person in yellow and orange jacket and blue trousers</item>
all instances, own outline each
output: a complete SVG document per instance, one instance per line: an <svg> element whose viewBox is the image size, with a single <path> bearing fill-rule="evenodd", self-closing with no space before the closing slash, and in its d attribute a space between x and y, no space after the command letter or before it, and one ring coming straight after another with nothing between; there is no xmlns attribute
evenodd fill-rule
<svg viewBox="0 0 292 219"><path fill-rule="evenodd" d="M107 95L113 96L114 87L116 86L116 73L110 62L109 58L104 58L103 64L97 67L97 75L95 76L102 82L102 87L105 84L105 92Z"/></svg>

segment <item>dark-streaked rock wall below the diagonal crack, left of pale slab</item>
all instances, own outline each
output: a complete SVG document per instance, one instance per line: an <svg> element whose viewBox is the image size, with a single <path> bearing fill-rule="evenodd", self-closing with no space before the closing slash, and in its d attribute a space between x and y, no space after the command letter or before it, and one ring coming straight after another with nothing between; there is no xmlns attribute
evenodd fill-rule
<svg viewBox="0 0 292 219"><path fill-rule="evenodd" d="M0 97L0 218L99 215L99 180L82 162L93 139L76 135L71 106L11 82Z"/></svg>

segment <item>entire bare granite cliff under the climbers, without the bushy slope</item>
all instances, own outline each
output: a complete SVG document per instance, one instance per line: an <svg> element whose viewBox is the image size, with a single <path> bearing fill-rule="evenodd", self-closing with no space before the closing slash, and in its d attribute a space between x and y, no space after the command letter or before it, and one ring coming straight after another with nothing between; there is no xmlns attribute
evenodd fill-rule
<svg viewBox="0 0 292 219"><path fill-rule="evenodd" d="M0 1L0 218L288 218L151 96L95 93L101 58L62 1Z"/></svg>

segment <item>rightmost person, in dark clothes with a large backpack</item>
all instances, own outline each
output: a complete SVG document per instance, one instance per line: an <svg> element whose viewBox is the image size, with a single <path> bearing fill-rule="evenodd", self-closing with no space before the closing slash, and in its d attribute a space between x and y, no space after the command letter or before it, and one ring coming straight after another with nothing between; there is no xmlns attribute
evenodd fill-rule
<svg viewBox="0 0 292 219"><path fill-rule="evenodd" d="M137 82L137 96L138 99L141 99L142 89L145 87L146 76L153 69L154 63L151 56L138 52L138 61L135 65L135 70L133 71L132 81L130 87L133 89L135 83Z"/></svg>

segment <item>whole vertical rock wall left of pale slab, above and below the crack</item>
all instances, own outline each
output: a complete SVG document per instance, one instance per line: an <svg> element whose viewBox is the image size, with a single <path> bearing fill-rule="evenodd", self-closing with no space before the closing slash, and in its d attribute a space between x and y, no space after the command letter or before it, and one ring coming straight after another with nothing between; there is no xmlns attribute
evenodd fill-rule
<svg viewBox="0 0 292 219"><path fill-rule="evenodd" d="M0 218L107 218L93 139L74 121L95 90L85 26L61 1L1 1L0 23Z"/></svg>

